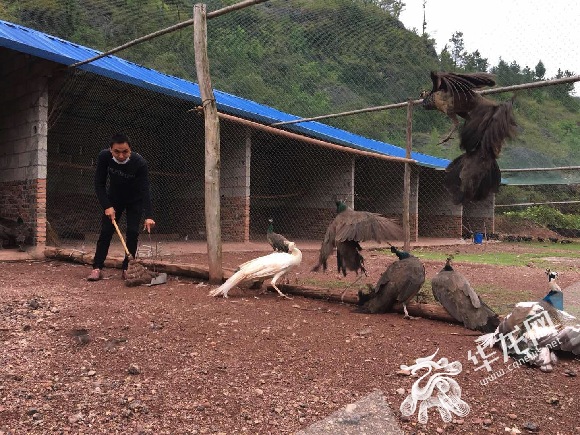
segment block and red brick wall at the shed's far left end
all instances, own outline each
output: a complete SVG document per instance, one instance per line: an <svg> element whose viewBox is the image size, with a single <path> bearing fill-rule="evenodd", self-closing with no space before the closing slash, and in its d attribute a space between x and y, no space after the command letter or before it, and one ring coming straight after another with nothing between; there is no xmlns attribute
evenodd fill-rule
<svg viewBox="0 0 580 435"><path fill-rule="evenodd" d="M0 49L0 216L21 217L46 241L50 62Z"/></svg>

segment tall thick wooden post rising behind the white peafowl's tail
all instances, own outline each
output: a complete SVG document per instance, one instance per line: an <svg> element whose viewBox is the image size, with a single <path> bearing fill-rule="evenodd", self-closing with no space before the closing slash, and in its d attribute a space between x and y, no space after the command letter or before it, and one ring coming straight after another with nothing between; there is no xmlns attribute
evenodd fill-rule
<svg viewBox="0 0 580 435"><path fill-rule="evenodd" d="M220 223L220 125L209 74L206 5L193 7L195 69L205 118L205 229L209 282L222 282L222 235Z"/></svg>

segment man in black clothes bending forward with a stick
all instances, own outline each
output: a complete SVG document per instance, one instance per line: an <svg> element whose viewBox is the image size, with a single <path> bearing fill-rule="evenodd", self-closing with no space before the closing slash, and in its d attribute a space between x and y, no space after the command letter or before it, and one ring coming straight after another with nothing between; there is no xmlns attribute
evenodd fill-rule
<svg viewBox="0 0 580 435"><path fill-rule="evenodd" d="M107 191L107 179L109 189ZM117 133L111 138L109 149L104 149L97 157L95 172L95 192L104 214L101 218L101 233L93 261L89 281L98 281L103 275L105 258L109 252L111 238L115 232L113 220L118 222L123 212L127 213L127 248L135 256L139 237L139 222L145 214L144 229L151 232L155 226L152 219L151 195L147 161L131 152L129 138ZM129 257L123 260L122 278L127 278Z"/></svg>

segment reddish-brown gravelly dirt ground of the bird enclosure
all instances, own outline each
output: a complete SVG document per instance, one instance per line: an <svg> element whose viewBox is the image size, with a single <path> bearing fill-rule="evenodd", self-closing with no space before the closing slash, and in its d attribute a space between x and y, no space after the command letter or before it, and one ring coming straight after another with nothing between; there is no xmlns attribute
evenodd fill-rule
<svg viewBox="0 0 580 435"><path fill-rule="evenodd" d="M508 243L429 249L442 258L525 251ZM267 252L227 252L224 264ZM363 253L373 283L392 259ZM316 256L304 252L291 283L338 281L334 257L332 271L309 272ZM562 288L580 281L574 259L553 260ZM442 265L425 261L427 279ZM474 286L546 293L544 271L533 265L455 266ZM580 362L570 356L552 373L520 367L483 385L489 373L468 359L478 334L460 325L250 289L216 299L212 286L177 277L131 288L111 269L90 283L89 271L60 261L0 263L0 434L287 434L375 390L407 434L580 433ZM469 414L447 424L435 410L426 425L401 418L415 379L397 374L400 365L437 349L437 359L463 365L456 380Z"/></svg>

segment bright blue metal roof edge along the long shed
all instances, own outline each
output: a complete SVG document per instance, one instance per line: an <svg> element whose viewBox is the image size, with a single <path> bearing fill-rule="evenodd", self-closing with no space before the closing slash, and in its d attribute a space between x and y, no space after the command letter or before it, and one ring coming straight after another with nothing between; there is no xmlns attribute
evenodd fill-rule
<svg viewBox="0 0 580 435"><path fill-rule="evenodd" d="M75 44L28 27L0 20L0 46L64 65L72 65L100 54L100 51ZM120 57L107 56L80 69L113 78L125 83L201 104L199 87L196 83L173 77L158 71L128 62ZM291 121L300 117L281 112L264 104L214 90L218 110L264 124ZM374 151L394 157L405 157L401 147L369 139L339 128L316 121L288 124L286 129L311 137L326 140L365 151ZM412 158L422 166L443 169L449 160L412 153Z"/></svg>

